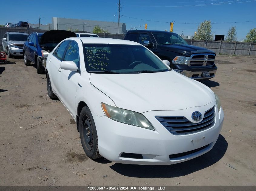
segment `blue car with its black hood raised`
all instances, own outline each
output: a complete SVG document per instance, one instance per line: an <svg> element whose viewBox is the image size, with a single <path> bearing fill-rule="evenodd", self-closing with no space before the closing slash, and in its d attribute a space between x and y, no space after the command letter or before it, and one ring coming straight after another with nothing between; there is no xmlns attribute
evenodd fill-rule
<svg viewBox="0 0 256 191"><path fill-rule="evenodd" d="M45 33L30 34L23 48L25 65L29 66L33 62L37 73L43 74L48 54L59 42L69 37L76 37L76 34L67 30L49 30Z"/></svg>

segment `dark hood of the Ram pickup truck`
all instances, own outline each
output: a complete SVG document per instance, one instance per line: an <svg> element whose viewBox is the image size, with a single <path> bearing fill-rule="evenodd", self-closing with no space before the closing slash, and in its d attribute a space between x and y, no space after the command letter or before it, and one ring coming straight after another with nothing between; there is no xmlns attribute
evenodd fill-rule
<svg viewBox="0 0 256 191"><path fill-rule="evenodd" d="M172 52L184 54L190 56L192 53L213 53L212 50L208 50L199 46L192 46L188 44L168 44L168 45L159 45L160 49L169 50Z"/></svg>

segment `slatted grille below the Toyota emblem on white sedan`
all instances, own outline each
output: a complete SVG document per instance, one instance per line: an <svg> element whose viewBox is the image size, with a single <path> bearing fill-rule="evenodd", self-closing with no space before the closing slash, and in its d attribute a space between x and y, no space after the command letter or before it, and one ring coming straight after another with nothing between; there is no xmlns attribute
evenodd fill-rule
<svg viewBox="0 0 256 191"><path fill-rule="evenodd" d="M155 118L174 135L184 135L208 129L215 122L215 108L207 110L199 123L192 123L184 116L155 116Z"/></svg>

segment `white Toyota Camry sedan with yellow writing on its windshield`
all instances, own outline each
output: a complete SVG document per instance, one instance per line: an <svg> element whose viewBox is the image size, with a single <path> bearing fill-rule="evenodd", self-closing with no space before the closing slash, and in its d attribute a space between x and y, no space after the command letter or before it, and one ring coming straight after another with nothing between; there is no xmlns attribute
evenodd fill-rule
<svg viewBox="0 0 256 191"><path fill-rule="evenodd" d="M210 88L139 43L68 38L48 55L47 90L75 119L91 158L175 164L214 146L224 113Z"/></svg>

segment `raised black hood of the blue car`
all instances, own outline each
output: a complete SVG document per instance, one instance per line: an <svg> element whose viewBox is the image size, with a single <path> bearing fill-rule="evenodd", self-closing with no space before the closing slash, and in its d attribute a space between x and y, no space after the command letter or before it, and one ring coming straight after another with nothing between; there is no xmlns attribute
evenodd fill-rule
<svg viewBox="0 0 256 191"><path fill-rule="evenodd" d="M68 30L49 30L42 34L40 44L60 43L69 37L76 37L76 34Z"/></svg>

